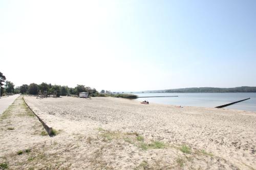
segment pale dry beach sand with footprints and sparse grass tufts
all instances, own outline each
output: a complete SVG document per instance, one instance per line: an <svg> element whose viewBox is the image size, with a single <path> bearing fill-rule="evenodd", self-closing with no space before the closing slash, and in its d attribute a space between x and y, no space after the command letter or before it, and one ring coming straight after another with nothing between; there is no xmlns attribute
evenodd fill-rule
<svg viewBox="0 0 256 170"><path fill-rule="evenodd" d="M20 126L17 132L4 134L8 119L0 125L0 163L14 169L256 168L256 112L117 98L25 100L59 133L41 136L36 117L14 110L9 119ZM16 154L26 148L31 153Z"/></svg>

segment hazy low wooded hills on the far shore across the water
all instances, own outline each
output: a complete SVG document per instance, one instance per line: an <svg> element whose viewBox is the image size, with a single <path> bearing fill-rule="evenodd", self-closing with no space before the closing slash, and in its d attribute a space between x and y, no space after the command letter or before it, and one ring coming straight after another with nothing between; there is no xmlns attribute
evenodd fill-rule
<svg viewBox="0 0 256 170"><path fill-rule="evenodd" d="M191 87L191 88L178 88L178 89L167 89L167 90L150 90L143 91L145 93L222 93L222 92L256 92L256 87L242 86L232 88L218 88L218 87Z"/></svg>

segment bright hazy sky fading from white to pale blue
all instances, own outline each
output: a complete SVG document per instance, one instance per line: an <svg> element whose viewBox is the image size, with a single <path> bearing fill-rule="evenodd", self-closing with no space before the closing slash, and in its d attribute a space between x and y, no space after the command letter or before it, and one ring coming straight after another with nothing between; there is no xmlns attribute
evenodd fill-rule
<svg viewBox="0 0 256 170"><path fill-rule="evenodd" d="M0 1L0 71L111 91L256 86L256 1Z"/></svg>

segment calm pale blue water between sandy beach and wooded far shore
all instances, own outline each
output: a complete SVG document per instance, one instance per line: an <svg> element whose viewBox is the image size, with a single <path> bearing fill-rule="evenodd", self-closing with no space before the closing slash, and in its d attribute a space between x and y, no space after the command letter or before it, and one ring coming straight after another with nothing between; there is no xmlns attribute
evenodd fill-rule
<svg viewBox="0 0 256 170"><path fill-rule="evenodd" d="M137 98L137 101L147 100L148 102L178 105L216 107L243 99L249 100L236 103L225 108L256 111L256 93L133 93L138 96L167 96L178 95L171 98Z"/></svg>

